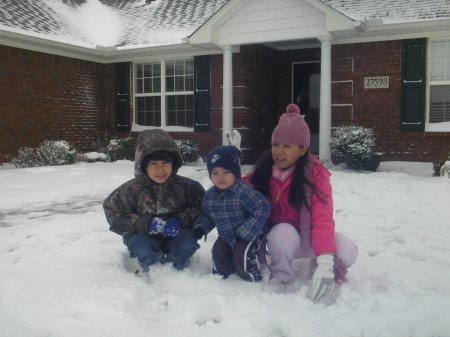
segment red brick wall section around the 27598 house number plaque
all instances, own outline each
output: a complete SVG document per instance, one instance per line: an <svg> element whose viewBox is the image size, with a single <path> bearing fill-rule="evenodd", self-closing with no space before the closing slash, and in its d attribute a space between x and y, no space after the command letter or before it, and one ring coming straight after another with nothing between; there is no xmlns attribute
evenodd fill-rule
<svg viewBox="0 0 450 337"><path fill-rule="evenodd" d="M332 47L333 126L373 127L383 160L432 161L450 152L450 133L400 130L401 41ZM389 76L388 89L364 77Z"/></svg>

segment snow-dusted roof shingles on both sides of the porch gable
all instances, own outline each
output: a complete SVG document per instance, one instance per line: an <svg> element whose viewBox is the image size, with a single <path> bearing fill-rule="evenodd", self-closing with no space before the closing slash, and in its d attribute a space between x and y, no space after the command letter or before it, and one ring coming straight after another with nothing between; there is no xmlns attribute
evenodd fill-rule
<svg viewBox="0 0 450 337"><path fill-rule="evenodd" d="M179 44L182 38L192 34L228 1L2 0L0 30L95 46L93 34L89 29L83 29L84 17L80 13L82 6L95 2L117 16L116 22L123 25L114 45L133 48ZM353 20L380 18L384 23L399 23L450 18L448 0L321 1Z"/></svg>

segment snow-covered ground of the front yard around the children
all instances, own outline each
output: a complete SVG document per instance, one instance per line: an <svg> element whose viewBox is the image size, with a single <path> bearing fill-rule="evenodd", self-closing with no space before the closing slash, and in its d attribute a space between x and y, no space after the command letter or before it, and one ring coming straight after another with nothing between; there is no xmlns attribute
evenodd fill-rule
<svg viewBox="0 0 450 337"><path fill-rule="evenodd" d="M101 203L133 163L0 169L0 336L450 336L450 179L431 163L332 168L337 230L359 247L321 303L211 275L213 232L184 271L129 270ZM204 167L181 175L211 186Z"/></svg>

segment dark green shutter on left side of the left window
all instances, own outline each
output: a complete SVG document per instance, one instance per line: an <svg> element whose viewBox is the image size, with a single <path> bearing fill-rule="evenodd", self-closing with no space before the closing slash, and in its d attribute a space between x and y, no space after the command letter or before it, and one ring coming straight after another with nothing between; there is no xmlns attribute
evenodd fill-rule
<svg viewBox="0 0 450 337"><path fill-rule="evenodd" d="M116 64L116 129L130 130L130 65Z"/></svg>

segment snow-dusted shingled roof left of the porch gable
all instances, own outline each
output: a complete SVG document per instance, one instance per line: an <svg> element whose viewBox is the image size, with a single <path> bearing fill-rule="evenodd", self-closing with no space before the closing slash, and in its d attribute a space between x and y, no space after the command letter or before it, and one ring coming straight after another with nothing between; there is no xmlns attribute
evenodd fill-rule
<svg viewBox="0 0 450 337"><path fill-rule="evenodd" d="M0 29L11 28L22 34L41 34L60 39L95 44L65 14L77 16L88 1L100 1L123 22L123 35L116 45L164 45L181 43L228 0L3 0L0 2ZM106 7L105 7L106 8Z"/></svg>

